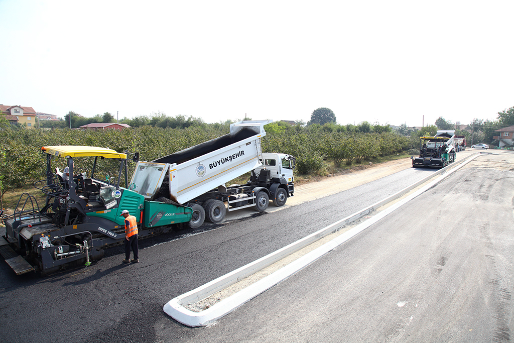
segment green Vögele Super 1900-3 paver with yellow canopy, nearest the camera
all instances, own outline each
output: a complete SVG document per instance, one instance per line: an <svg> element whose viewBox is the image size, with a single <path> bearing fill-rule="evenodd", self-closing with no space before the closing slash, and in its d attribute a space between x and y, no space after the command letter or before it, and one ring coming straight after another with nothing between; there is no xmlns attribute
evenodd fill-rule
<svg viewBox="0 0 514 343"><path fill-rule="evenodd" d="M173 201L148 201L127 187L127 155L111 149L84 146L43 147L46 179L35 183L46 195L40 208L33 195L24 193L16 211L4 220L6 236L0 238L0 254L16 274L36 270L53 272L65 265L103 257L104 248L125 238L122 210L138 221L139 237L168 232L172 224L188 223L192 209ZM65 158L69 176L51 167L53 158ZM74 170L74 160L92 161L89 170ZM98 165L119 166L117 177L100 180ZM83 165L83 164L81 164ZM120 187L124 180L125 188ZM157 187L156 180L147 180ZM23 257L22 257L23 256Z"/></svg>

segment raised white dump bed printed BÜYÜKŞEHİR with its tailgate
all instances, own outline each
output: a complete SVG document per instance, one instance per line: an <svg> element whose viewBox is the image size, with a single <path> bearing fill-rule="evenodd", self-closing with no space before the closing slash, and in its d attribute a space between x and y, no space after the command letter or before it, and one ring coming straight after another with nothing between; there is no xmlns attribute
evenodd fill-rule
<svg viewBox="0 0 514 343"><path fill-rule="evenodd" d="M153 200L168 174L169 194L180 204L209 192L262 165L261 141L270 120L230 125L230 133L151 162L139 162L135 191Z"/></svg>

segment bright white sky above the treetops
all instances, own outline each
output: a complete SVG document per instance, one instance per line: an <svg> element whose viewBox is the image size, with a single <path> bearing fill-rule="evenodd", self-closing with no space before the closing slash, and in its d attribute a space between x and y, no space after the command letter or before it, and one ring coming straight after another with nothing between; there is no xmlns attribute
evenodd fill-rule
<svg viewBox="0 0 514 343"><path fill-rule="evenodd" d="M408 126L514 106L512 0L0 0L0 103Z"/></svg>

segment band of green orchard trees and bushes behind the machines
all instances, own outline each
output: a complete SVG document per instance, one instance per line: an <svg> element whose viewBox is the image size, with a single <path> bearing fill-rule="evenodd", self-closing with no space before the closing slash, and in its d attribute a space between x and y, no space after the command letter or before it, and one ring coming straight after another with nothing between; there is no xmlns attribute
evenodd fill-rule
<svg viewBox="0 0 514 343"><path fill-rule="evenodd" d="M498 113L497 121L474 119L465 135L468 144L491 142L494 130L514 125L514 107ZM69 130L91 122L112 122L110 113L84 118L74 112L67 114L67 123L53 130L13 127L0 117L0 200L10 189L19 188L44 177L45 156L42 146L85 145L111 148L116 151L139 152L143 160L154 160L161 156L183 150L198 143L222 136L229 132L232 121L205 123L200 118L176 116L163 113L121 120L131 126L118 130ZM244 120L251 120L244 118ZM49 125L56 122L48 122ZM46 125L47 123L45 123ZM43 126L43 125L42 125ZM390 125L371 124L363 121L357 125L336 123L334 113L322 107L311 115L305 124L302 121L286 123L272 122L265 127L264 152L288 153L296 157L298 174L325 175L331 167L351 166L363 161L400 152L417 154L420 136L434 136L438 129L453 130L455 124L439 117L436 125L421 130L408 128L405 124L393 130ZM469 131L469 132L468 132ZM63 159L54 160L55 166L64 169ZM117 168L103 170L104 176L116 174ZM130 175L131 176L131 175Z"/></svg>

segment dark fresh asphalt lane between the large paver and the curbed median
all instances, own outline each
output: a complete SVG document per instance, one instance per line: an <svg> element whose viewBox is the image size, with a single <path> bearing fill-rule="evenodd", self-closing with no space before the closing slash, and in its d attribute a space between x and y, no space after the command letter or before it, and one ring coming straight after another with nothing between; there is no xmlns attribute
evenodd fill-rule
<svg viewBox="0 0 514 343"><path fill-rule="evenodd" d="M2 340L170 342L191 338L200 331L185 328L162 312L171 298L369 206L431 172L408 169L324 199L214 226L197 236L175 240L182 233L170 233L141 241L141 263L135 265L120 264L120 247L109 249L104 259L84 273L74 269L44 278L16 277L2 262Z"/></svg>

